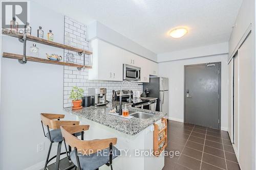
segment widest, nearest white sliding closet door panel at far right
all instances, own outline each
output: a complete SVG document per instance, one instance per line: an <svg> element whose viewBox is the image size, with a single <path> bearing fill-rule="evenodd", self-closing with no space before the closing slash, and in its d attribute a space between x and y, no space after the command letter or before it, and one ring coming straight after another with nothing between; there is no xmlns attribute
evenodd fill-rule
<svg viewBox="0 0 256 170"><path fill-rule="evenodd" d="M252 169L254 125L253 45L249 35L238 50L239 59L239 163L241 169Z"/></svg>

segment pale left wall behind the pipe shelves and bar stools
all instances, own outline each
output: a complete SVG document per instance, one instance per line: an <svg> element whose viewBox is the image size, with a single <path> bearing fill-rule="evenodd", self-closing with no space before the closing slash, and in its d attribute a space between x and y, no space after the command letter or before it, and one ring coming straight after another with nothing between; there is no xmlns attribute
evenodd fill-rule
<svg viewBox="0 0 256 170"><path fill-rule="evenodd" d="M54 41L63 43L64 16L31 2L32 35L38 26L51 29ZM28 42L27 50L32 42ZM60 48L36 43L39 55L63 55ZM4 36L3 52L23 53L18 39ZM46 159L49 140L44 137L39 113L63 113L63 66L2 59L0 110L0 169L24 169ZM45 142L45 151L37 152L37 143ZM54 144L54 148L56 145ZM56 153L54 150L52 155Z"/></svg>

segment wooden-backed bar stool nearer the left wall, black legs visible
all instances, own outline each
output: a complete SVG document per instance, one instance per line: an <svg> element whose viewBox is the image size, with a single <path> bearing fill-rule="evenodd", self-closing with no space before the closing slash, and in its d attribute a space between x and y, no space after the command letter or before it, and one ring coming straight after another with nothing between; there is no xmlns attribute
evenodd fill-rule
<svg viewBox="0 0 256 170"><path fill-rule="evenodd" d="M67 156L70 160L68 152L60 153L61 143L63 141L63 137L62 137L61 131L60 131L60 126L75 126L75 125L79 125L80 122L79 121L60 120L60 118L65 117L65 115L63 115L63 114L41 113L40 115L41 115L42 130L44 131L45 137L47 137L50 140L50 147L49 147L49 151L48 151L48 154L47 154L44 169L46 170L47 164L52 159L56 158L55 169L58 170L60 155L67 153ZM47 131L48 131L47 134L45 133L44 125L47 127ZM50 129L52 129L52 130L50 130ZM80 136L81 133L76 133L76 134L73 134L73 135ZM57 155L55 155L55 156L53 156L52 158L49 159L50 152L51 152L51 149L52 149L52 143L54 143L54 142L58 143ZM71 151L71 148L70 148L70 151Z"/></svg>

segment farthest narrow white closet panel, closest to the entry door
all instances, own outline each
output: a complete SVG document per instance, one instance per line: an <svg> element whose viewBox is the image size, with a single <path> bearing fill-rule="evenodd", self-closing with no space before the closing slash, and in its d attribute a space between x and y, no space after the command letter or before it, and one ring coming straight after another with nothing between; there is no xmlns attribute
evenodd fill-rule
<svg viewBox="0 0 256 170"><path fill-rule="evenodd" d="M230 136L231 142L233 143L233 81L234 81L234 60L233 58L228 63L228 134Z"/></svg>

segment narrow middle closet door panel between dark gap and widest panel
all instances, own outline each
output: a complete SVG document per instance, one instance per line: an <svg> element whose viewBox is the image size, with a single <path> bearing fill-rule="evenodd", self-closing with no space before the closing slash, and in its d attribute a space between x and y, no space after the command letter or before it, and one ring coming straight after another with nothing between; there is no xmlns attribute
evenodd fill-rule
<svg viewBox="0 0 256 170"><path fill-rule="evenodd" d="M234 58L234 84L233 84L233 94L234 94L234 100L233 100L233 147L234 150L236 150L238 154L238 143L239 143L239 54L236 55Z"/></svg>

